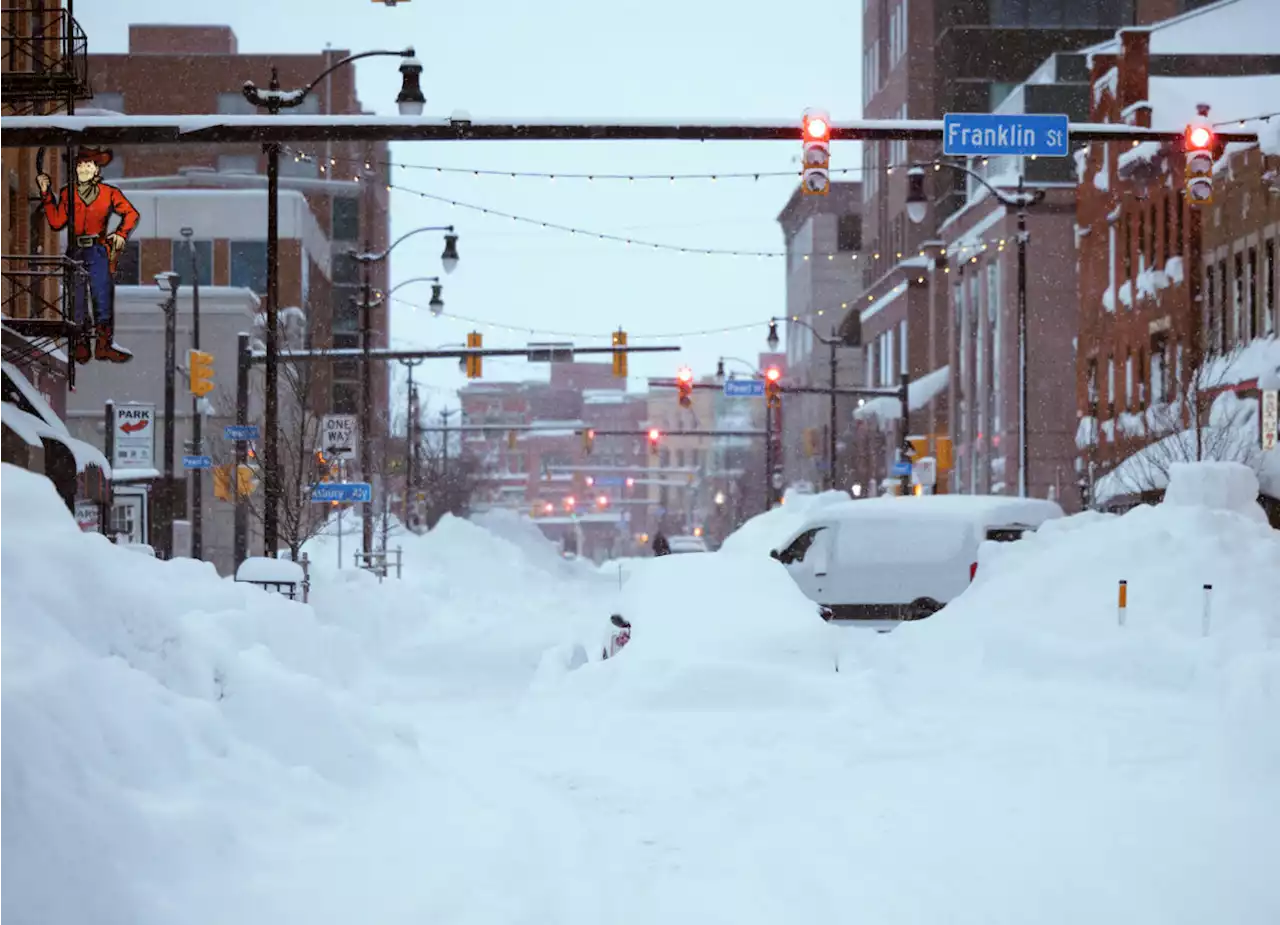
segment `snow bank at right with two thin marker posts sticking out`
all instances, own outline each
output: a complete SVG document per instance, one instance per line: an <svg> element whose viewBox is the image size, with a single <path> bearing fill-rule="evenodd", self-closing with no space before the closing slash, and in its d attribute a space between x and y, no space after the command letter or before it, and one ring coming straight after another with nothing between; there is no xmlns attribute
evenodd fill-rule
<svg viewBox="0 0 1280 925"><path fill-rule="evenodd" d="M1222 693L1239 690L1238 672L1262 670L1280 691L1280 534L1260 522L1256 496L1244 466L1188 463L1172 467L1170 500L1157 507L984 544L977 581L936 617L901 627L890 649L920 676Z"/></svg>

